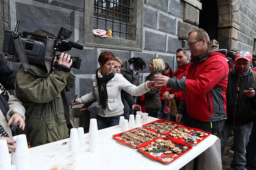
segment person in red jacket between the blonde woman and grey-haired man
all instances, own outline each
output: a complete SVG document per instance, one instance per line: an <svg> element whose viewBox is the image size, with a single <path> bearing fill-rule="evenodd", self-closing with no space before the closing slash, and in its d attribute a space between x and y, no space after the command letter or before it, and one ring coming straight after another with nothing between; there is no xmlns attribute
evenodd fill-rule
<svg viewBox="0 0 256 170"><path fill-rule="evenodd" d="M168 63L165 63L165 69L162 71L162 75L165 75L165 76L167 76L167 77L171 77L171 75L172 75L172 69L170 68L170 66L169 66ZM163 99L163 94L164 94L165 92L168 92L168 94L169 94L169 90L170 90L170 87L167 87L167 86L162 86L162 87L161 87L159 97L160 97L162 106L161 106L161 108L159 109L159 111L158 111L158 113L157 113L157 118L158 118L158 119L170 120L169 113L165 113L165 112L164 112L164 109L165 109L165 100Z"/></svg>

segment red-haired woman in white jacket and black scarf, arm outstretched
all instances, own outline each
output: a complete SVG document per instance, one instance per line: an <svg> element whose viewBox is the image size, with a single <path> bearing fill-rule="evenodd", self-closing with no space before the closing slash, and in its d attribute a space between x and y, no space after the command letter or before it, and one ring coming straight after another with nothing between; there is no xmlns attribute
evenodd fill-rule
<svg viewBox="0 0 256 170"><path fill-rule="evenodd" d="M115 56L111 52L102 52L98 62L100 68L91 77L92 92L76 99L73 104L96 100L98 129L103 129L117 125L119 117L124 114L124 105L120 95L122 89L133 96L140 96L155 86L153 81L135 86L128 82L122 74L116 74L114 71Z"/></svg>

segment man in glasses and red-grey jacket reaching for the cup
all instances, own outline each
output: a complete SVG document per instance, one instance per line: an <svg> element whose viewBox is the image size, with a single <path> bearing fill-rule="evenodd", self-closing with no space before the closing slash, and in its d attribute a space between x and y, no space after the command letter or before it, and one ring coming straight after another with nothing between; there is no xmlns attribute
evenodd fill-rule
<svg viewBox="0 0 256 170"><path fill-rule="evenodd" d="M167 85L186 92L184 113L187 126L219 137L227 119L227 50L218 50L218 42L210 41L203 29L191 31L187 43L192 55L186 80L156 75L155 82L159 87ZM181 102L180 108L182 106L184 103ZM176 119L180 121L182 117L182 114L177 114Z"/></svg>

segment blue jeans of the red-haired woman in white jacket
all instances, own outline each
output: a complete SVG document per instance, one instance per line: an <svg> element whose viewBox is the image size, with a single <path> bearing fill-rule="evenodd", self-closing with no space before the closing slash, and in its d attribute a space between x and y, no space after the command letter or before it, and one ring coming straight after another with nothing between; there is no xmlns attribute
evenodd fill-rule
<svg viewBox="0 0 256 170"><path fill-rule="evenodd" d="M96 119L97 119L98 130L118 125L120 116L124 116L124 114L119 116L114 116L114 117L101 117L97 115Z"/></svg>

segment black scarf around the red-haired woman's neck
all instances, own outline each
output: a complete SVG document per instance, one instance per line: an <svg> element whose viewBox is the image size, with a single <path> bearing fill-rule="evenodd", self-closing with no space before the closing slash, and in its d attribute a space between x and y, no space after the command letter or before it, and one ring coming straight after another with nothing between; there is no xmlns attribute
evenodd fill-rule
<svg viewBox="0 0 256 170"><path fill-rule="evenodd" d="M99 96L100 96L100 105L102 105L102 109L106 109L107 107L107 100L108 100L108 91L106 90L106 83L115 77L115 70L112 71L110 74L106 74L102 78L98 77L99 68L96 70L96 79L97 85L99 88Z"/></svg>

